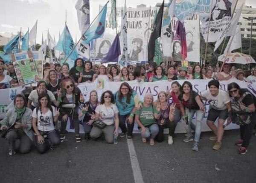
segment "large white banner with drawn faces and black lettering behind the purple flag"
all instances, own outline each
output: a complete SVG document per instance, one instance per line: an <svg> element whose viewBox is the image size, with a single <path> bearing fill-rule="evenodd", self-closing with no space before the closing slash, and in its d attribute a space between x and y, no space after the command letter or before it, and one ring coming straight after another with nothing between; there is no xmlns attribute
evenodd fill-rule
<svg viewBox="0 0 256 183"><path fill-rule="evenodd" d="M156 7L127 8L127 40L128 40L128 61L148 60L148 39L153 30L154 14ZM101 60L108 54L111 43L116 36L116 30L109 26L111 9L107 10L106 31L104 37L96 40L96 59ZM117 30L121 30L122 9L116 9ZM121 31L119 31L121 32ZM120 38L122 40L122 37ZM122 47L122 45L121 45ZM121 48L123 49L123 48ZM123 54L123 53L122 53Z"/></svg>

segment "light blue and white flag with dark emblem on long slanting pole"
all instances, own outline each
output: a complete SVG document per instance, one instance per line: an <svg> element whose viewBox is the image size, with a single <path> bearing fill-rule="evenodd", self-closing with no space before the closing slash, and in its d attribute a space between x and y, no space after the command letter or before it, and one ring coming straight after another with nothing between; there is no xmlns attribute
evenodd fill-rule
<svg viewBox="0 0 256 183"><path fill-rule="evenodd" d="M105 22L106 22L106 12L107 4L103 7L101 13L98 15L98 18L95 20L92 26L87 29L84 33L84 43L89 44L91 40L100 38L105 32Z"/></svg>

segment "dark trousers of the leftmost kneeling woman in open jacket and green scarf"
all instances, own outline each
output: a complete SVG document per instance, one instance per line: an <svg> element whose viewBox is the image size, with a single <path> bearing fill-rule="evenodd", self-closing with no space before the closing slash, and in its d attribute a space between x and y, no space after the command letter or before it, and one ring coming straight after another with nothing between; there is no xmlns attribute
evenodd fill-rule
<svg viewBox="0 0 256 183"><path fill-rule="evenodd" d="M26 154L30 152L31 149L31 140L30 138L23 132L22 134L18 134L15 130L11 130L6 134L6 139L10 145L10 149L12 152L15 151L15 143L17 139L20 139L20 146L18 147L19 152L21 154Z"/></svg>

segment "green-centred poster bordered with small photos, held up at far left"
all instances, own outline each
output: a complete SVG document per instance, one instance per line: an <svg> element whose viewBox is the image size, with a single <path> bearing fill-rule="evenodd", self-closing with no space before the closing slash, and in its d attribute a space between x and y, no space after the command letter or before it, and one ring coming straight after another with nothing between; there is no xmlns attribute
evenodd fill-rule
<svg viewBox="0 0 256 183"><path fill-rule="evenodd" d="M39 80L38 71L31 51L23 51L12 55L14 69L20 85Z"/></svg>

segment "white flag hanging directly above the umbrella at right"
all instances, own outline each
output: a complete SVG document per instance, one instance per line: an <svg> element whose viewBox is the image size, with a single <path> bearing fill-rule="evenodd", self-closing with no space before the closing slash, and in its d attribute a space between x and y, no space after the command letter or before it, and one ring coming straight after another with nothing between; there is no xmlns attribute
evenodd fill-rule
<svg viewBox="0 0 256 183"><path fill-rule="evenodd" d="M235 35L233 37L230 37L230 40L227 43L227 47L226 47L224 53L227 53L227 50L228 50L229 47L230 47L229 52L242 47L241 31L240 31L240 26L239 25L236 26Z"/></svg>

